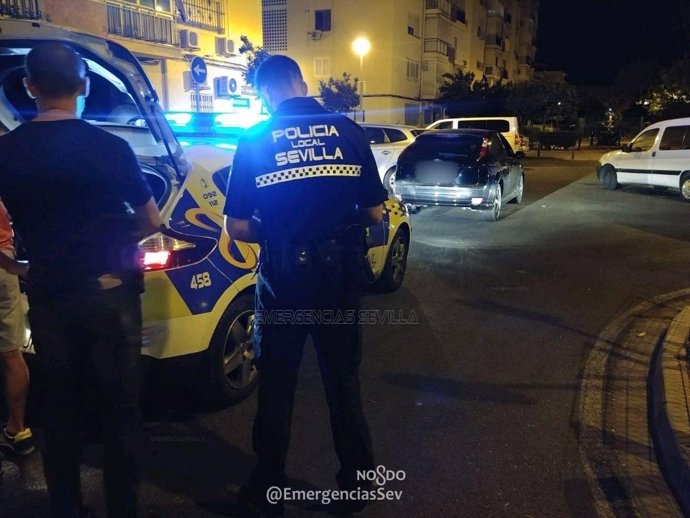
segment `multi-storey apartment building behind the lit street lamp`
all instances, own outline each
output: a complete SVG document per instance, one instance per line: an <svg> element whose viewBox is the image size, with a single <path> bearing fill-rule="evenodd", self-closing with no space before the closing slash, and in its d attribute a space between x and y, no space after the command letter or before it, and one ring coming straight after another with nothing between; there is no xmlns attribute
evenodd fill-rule
<svg viewBox="0 0 690 518"><path fill-rule="evenodd" d="M443 74L490 83L533 77L538 0L262 0L263 45L319 81L360 80L357 120L426 125ZM357 38L369 49L352 50Z"/></svg>

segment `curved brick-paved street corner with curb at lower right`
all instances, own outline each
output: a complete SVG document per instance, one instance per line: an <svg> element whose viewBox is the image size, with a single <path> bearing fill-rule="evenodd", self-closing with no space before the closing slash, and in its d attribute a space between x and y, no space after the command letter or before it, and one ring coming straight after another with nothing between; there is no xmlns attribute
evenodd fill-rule
<svg viewBox="0 0 690 518"><path fill-rule="evenodd" d="M690 289L599 335L583 369L578 435L600 516L690 516Z"/></svg>

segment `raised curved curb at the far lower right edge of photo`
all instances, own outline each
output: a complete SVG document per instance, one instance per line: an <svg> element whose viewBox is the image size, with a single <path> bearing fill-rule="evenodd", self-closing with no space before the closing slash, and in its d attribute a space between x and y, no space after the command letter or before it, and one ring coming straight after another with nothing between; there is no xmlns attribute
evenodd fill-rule
<svg viewBox="0 0 690 518"><path fill-rule="evenodd" d="M654 353L647 387L655 454L685 516L690 516L689 336L687 306L673 319Z"/></svg>

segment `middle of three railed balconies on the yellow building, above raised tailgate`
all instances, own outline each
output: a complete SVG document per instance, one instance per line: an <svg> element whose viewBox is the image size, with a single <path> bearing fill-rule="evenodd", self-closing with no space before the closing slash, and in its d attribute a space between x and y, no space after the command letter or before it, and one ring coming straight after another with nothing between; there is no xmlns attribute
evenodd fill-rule
<svg viewBox="0 0 690 518"><path fill-rule="evenodd" d="M110 34L168 45L176 42L176 24L171 13L107 3L106 17Z"/></svg>

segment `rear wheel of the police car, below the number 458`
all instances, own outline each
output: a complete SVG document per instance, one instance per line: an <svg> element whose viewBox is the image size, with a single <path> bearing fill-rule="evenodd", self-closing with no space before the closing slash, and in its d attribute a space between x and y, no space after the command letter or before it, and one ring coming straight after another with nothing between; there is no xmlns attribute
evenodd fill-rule
<svg viewBox="0 0 690 518"><path fill-rule="evenodd" d="M208 399L231 404L256 385L254 365L254 296L241 295L225 310L213 333L202 373Z"/></svg>

